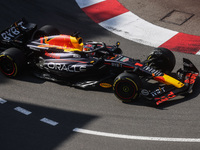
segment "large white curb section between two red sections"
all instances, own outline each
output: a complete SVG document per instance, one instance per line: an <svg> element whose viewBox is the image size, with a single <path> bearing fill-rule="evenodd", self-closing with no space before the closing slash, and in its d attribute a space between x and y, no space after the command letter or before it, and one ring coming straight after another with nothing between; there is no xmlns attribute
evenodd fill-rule
<svg viewBox="0 0 200 150"><path fill-rule="evenodd" d="M126 39L152 47L160 46L178 33L149 23L130 11L99 25Z"/></svg>

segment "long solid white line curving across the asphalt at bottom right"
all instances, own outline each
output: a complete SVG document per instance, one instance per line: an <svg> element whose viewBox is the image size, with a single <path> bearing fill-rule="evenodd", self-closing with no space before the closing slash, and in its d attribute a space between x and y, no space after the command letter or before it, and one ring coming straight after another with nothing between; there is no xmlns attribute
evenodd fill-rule
<svg viewBox="0 0 200 150"><path fill-rule="evenodd" d="M200 138L169 138L169 137L134 136L134 135L124 135L124 134L114 134L114 133L92 131L92 130L86 130L86 129L80 129L80 128L74 128L73 131L78 132L78 133L96 135L96 136L105 136L105 137L121 138L121 139L129 139L129 140L200 143Z"/></svg>

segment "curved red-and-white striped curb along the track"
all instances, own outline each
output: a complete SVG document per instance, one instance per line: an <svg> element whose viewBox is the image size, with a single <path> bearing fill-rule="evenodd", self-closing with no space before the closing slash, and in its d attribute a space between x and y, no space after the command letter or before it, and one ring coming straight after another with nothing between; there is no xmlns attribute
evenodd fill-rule
<svg viewBox="0 0 200 150"><path fill-rule="evenodd" d="M76 0L95 23L128 40L151 47L200 55L200 36L169 30L145 21L117 0Z"/></svg>

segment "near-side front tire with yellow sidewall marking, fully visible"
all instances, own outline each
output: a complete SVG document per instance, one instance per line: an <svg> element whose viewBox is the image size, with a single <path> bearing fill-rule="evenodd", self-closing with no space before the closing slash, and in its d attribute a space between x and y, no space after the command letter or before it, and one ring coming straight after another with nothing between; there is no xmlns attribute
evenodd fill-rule
<svg viewBox="0 0 200 150"><path fill-rule="evenodd" d="M113 91L118 99L124 103L129 103L138 98L141 86L139 76L125 72L115 78Z"/></svg>

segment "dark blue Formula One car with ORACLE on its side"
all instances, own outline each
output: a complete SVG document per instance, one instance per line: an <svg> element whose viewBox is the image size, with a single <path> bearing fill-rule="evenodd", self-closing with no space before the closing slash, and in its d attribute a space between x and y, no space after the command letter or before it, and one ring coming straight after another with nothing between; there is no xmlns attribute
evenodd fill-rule
<svg viewBox="0 0 200 150"><path fill-rule="evenodd" d="M176 77L167 75L175 66L175 57L165 48L156 48L140 61L123 56L119 42L112 46L83 43L77 33L63 35L50 25L37 30L36 24L25 19L1 32L0 50L0 70L8 77L15 77L27 66L37 77L70 86L112 88L123 102L143 96L159 105L191 92L199 74L184 58Z"/></svg>

